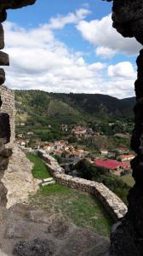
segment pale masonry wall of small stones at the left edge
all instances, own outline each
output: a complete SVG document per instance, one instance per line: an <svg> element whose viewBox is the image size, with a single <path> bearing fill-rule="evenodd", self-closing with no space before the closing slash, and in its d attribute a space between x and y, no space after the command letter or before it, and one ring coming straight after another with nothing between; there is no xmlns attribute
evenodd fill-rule
<svg viewBox="0 0 143 256"><path fill-rule="evenodd" d="M1 101L3 102L0 113L9 114L10 123L10 143L7 144L8 148L13 148L15 141L15 107L14 107L14 90L10 90L6 86L0 87Z"/></svg>

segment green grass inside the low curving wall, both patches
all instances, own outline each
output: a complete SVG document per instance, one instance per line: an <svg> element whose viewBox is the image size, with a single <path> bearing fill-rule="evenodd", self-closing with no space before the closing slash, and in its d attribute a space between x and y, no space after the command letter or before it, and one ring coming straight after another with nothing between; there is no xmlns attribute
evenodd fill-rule
<svg viewBox="0 0 143 256"><path fill-rule="evenodd" d="M34 177L49 177L41 159L32 154L28 154L28 159L34 163L32 170ZM88 193L54 184L41 187L36 195L30 196L30 203L51 214L60 213L79 227L88 228L103 236L110 234L112 219L100 202Z"/></svg>

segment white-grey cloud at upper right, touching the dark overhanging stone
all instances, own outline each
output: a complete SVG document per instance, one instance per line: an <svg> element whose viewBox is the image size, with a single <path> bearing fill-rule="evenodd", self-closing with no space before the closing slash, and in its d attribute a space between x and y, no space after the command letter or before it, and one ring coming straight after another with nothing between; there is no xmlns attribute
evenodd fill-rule
<svg viewBox="0 0 143 256"><path fill-rule="evenodd" d="M89 43L94 44L95 47L102 47L102 49L108 48L112 54L123 52L127 55L136 55L141 49L141 45L134 38L123 38L112 28L112 15L107 15L101 20L81 20L77 24L77 30ZM98 53L99 49L97 49ZM103 56L101 48L100 54Z"/></svg>

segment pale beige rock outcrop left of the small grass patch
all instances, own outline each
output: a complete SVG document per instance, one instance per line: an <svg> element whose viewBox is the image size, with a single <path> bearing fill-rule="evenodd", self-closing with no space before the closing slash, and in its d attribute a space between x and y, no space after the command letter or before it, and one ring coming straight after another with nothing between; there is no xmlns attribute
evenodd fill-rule
<svg viewBox="0 0 143 256"><path fill-rule="evenodd" d="M14 145L13 155L9 159L9 166L2 179L3 184L8 189L7 207L19 202L26 202L30 193L37 192L38 180L32 177L32 166L33 164L27 160L26 154Z"/></svg>

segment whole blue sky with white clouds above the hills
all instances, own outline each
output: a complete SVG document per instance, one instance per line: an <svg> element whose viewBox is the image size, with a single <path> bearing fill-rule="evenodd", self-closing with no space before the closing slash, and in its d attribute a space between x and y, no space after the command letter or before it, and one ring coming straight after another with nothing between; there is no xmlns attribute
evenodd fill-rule
<svg viewBox="0 0 143 256"><path fill-rule="evenodd" d="M37 0L9 10L5 51L12 89L134 96L134 38L112 28L112 3L101 0Z"/></svg>

